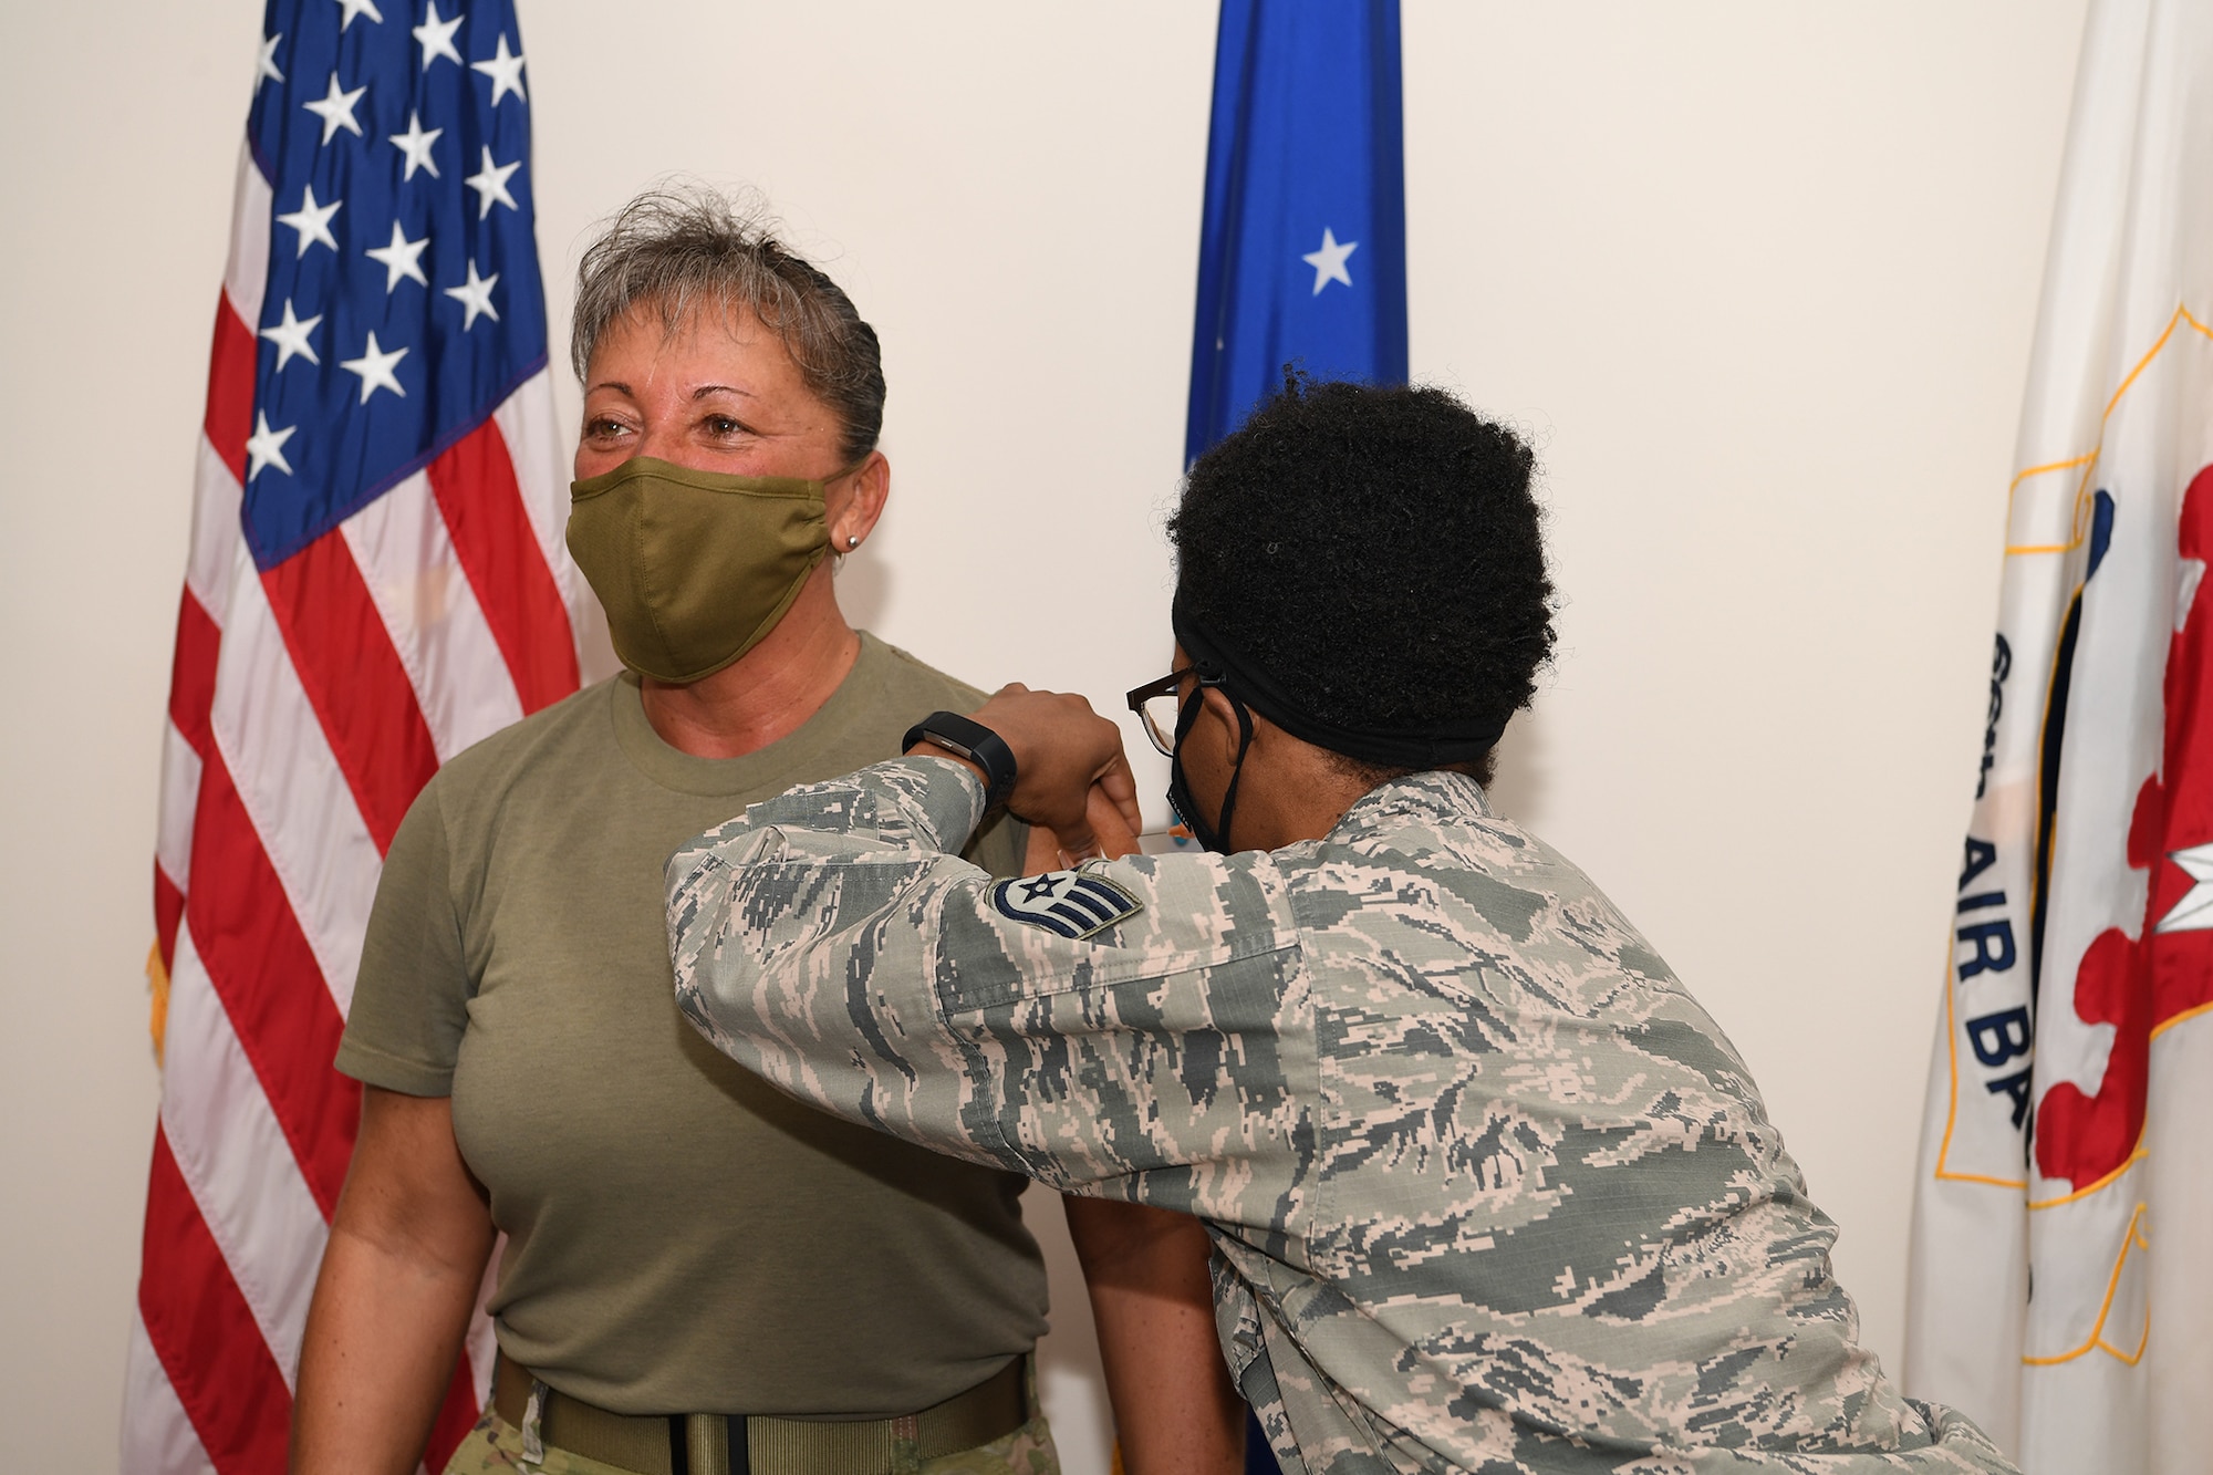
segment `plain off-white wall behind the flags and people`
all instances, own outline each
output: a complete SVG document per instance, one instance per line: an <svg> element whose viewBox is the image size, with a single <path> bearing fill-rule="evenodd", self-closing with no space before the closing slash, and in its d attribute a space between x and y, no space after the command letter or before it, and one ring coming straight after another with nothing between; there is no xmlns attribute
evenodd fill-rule
<svg viewBox="0 0 2213 1475"><path fill-rule="evenodd" d="M27 1468L115 1462L155 757L259 11L0 9L0 1428ZM1405 16L1414 372L1538 439L1567 600L1498 797L1750 1056L1892 1364L2080 20ZM848 602L978 682L1106 704L1155 675L1213 7L522 24L555 317L589 221L653 175L759 184L885 339L894 509Z"/></svg>

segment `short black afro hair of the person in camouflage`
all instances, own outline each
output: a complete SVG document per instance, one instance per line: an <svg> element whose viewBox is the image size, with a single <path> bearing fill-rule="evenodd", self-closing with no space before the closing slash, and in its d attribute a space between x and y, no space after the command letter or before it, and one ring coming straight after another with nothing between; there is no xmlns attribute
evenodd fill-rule
<svg viewBox="0 0 2213 1475"><path fill-rule="evenodd" d="M1184 481L1177 605L1323 722L1503 729L1554 644L1534 470L1445 390L1286 370Z"/></svg>

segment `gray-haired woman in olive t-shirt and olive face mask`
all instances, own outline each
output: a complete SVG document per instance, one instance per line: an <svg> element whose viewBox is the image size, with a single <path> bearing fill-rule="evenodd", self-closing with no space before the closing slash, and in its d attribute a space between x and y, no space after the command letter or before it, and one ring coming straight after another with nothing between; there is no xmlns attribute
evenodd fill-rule
<svg viewBox="0 0 2213 1475"><path fill-rule="evenodd" d="M294 1468L416 1466L505 1234L449 1473L1051 1475L1022 1180L792 1105L671 1001L679 844L985 700L839 609L890 494L876 334L755 210L657 190L582 257L573 361L569 547L626 669L454 757L385 857ZM969 855L1060 862L1014 819ZM1129 1464L1235 1468L1204 1238L1149 1214L1071 1211Z"/></svg>

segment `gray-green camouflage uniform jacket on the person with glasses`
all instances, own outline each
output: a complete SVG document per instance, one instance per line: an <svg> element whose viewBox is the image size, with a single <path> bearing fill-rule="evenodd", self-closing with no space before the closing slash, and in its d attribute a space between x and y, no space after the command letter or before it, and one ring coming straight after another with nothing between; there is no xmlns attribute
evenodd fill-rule
<svg viewBox="0 0 2213 1475"><path fill-rule="evenodd" d="M677 1001L828 1112L1206 1220L1290 1475L2012 1468L1857 1347L1744 1061L1472 780L1005 884L980 806L901 760L699 837Z"/></svg>

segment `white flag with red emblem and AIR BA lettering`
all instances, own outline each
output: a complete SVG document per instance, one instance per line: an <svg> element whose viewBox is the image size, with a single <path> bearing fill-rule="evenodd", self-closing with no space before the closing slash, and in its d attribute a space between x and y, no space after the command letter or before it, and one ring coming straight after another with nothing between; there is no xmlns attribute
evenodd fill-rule
<svg viewBox="0 0 2213 1475"><path fill-rule="evenodd" d="M2096 0L2007 503L1908 1386L2027 1475L2213 1389L2213 16Z"/></svg>

